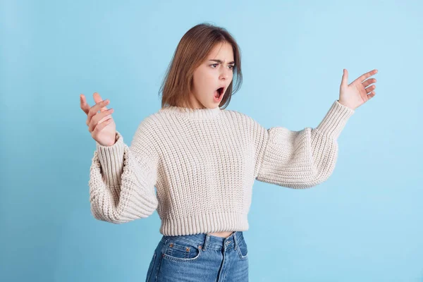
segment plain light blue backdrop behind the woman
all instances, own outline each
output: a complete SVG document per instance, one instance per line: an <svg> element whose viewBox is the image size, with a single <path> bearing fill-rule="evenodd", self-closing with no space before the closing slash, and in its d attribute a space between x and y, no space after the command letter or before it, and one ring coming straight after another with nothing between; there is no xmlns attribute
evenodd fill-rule
<svg viewBox="0 0 423 282"><path fill-rule="evenodd" d="M160 109L180 38L203 22L241 47L228 109L266 128L317 126L343 68L348 83L379 70L329 180L255 182L250 281L423 281L422 14L422 1L0 1L0 281L144 281L159 216L93 218L79 95L110 99L130 144Z"/></svg>

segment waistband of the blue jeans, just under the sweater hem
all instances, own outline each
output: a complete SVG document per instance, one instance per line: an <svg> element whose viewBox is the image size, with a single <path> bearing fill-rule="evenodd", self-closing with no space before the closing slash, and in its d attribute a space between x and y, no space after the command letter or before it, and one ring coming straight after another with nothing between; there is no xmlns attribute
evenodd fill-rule
<svg viewBox="0 0 423 282"><path fill-rule="evenodd" d="M243 231L234 231L227 238L209 235L207 233L199 233L193 235L177 235L177 236L168 236L163 235L161 242L165 243L167 240L185 240L189 243L195 245L201 245L202 250L207 250L208 248L213 250L223 250L225 247L231 247L231 245L238 245L240 240L244 239Z"/></svg>

